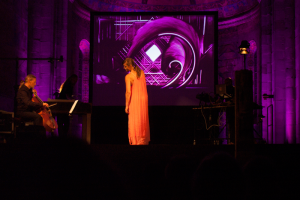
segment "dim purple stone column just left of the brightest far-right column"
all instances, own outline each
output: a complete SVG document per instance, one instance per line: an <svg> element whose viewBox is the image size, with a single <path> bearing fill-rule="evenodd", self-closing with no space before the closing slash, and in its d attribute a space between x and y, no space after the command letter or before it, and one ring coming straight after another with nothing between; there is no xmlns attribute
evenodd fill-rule
<svg viewBox="0 0 300 200"><path fill-rule="evenodd" d="M272 33L272 90L274 94L274 143L285 142L285 1L274 0Z"/></svg>

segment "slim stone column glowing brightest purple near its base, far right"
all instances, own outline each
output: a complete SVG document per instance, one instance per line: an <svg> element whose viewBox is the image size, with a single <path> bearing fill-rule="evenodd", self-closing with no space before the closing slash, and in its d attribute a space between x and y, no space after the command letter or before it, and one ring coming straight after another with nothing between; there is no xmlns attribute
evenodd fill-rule
<svg viewBox="0 0 300 200"><path fill-rule="evenodd" d="M288 143L296 142L295 105L295 1L285 0L285 94L286 124L285 134Z"/></svg>

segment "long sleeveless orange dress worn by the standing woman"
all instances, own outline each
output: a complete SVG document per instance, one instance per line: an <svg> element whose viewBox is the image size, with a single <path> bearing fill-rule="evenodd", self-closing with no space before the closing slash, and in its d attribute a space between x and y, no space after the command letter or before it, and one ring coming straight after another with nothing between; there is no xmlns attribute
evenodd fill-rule
<svg viewBox="0 0 300 200"><path fill-rule="evenodd" d="M132 73L131 97L128 114L128 139L130 145L148 145L150 127L148 116L148 93L145 75L141 77Z"/></svg>

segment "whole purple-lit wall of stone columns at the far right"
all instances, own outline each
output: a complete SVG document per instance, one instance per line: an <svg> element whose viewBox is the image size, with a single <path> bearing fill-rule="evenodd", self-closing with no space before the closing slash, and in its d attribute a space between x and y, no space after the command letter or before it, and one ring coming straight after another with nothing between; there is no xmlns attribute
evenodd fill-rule
<svg viewBox="0 0 300 200"><path fill-rule="evenodd" d="M262 101L263 115L270 116L268 123L264 122L263 136L270 143L296 143L299 138L299 21L296 21L299 3L266 0L262 1L261 8L262 93L274 95ZM267 113L266 108L272 105L273 109L269 107Z"/></svg>

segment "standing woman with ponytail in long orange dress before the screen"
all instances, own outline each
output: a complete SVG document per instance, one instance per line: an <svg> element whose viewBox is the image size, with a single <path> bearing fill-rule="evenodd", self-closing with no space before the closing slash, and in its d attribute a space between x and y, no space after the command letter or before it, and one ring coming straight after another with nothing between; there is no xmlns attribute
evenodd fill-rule
<svg viewBox="0 0 300 200"><path fill-rule="evenodd" d="M125 76L125 112L128 114L129 144L148 145L150 141L150 128L145 74L132 58L126 58L123 66L127 72L130 72Z"/></svg>

